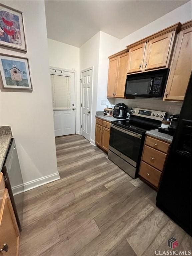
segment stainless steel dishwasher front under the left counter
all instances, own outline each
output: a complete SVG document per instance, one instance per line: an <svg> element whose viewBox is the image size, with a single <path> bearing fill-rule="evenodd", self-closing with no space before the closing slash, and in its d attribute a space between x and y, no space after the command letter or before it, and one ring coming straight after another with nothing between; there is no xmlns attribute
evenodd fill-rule
<svg viewBox="0 0 192 256"><path fill-rule="evenodd" d="M14 139L12 139L10 143L2 172L5 180L5 186L9 192L18 227L21 231L23 220L24 185Z"/></svg>

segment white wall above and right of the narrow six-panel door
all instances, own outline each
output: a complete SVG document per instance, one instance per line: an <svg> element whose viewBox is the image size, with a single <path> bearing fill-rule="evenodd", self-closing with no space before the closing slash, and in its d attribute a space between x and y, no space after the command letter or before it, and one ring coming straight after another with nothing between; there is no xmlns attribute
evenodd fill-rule
<svg viewBox="0 0 192 256"><path fill-rule="evenodd" d="M91 112L91 142L95 141L95 115L97 110L97 84L99 67L100 32L95 34L80 47L80 71L93 66L92 112Z"/></svg>

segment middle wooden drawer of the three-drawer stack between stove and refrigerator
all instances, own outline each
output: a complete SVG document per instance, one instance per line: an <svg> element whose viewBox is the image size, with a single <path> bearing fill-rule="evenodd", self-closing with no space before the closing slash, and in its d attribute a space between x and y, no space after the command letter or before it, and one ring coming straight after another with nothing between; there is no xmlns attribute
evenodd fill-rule
<svg viewBox="0 0 192 256"><path fill-rule="evenodd" d="M165 153L162 153L148 146L144 146L142 160L162 171L166 156L167 155Z"/></svg>

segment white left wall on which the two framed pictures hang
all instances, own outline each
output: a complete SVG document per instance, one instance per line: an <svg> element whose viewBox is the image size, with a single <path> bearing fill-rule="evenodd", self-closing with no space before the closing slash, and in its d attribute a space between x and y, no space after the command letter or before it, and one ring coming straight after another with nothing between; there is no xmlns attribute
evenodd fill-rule
<svg viewBox="0 0 192 256"><path fill-rule="evenodd" d="M1 53L29 58L32 92L1 91L1 125L11 125L25 189L59 178L51 100L44 1L1 1L23 12L27 53Z"/></svg>

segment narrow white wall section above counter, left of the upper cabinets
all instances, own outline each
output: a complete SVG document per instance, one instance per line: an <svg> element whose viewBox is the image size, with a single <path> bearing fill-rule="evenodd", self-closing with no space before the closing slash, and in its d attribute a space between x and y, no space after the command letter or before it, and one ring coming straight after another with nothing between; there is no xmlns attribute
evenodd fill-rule
<svg viewBox="0 0 192 256"><path fill-rule="evenodd" d="M120 39L100 31L97 111L103 111L105 107L105 105L101 105L101 100L106 100L107 105L114 104L114 99L107 99L108 56L118 52L119 46Z"/></svg>

